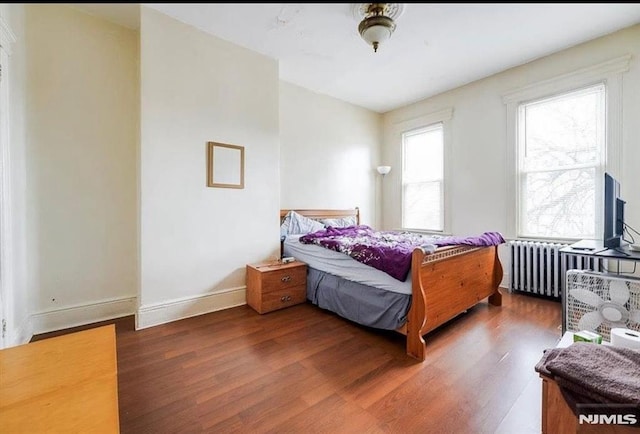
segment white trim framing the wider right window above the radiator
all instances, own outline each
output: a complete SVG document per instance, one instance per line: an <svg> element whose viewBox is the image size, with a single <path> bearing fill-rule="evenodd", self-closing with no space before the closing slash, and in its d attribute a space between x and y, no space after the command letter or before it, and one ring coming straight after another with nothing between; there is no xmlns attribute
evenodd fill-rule
<svg viewBox="0 0 640 434"><path fill-rule="evenodd" d="M597 65L582 68L547 80L532 83L502 96L507 109L507 231L514 239L519 232L518 210L518 107L532 100L552 97L599 83L606 86L606 143L604 169L614 177L622 167L622 74L629 71L631 55L617 57ZM597 234L596 234L597 235ZM551 240L551 238L549 238Z"/></svg>

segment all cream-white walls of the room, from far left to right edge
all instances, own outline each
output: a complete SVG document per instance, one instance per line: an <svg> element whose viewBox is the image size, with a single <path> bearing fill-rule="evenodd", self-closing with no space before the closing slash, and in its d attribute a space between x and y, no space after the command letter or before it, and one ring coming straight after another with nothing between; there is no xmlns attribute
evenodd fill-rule
<svg viewBox="0 0 640 434"><path fill-rule="evenodd" d="M144 7L139 34L60 5L9 11L18 334L32 314L46 331L117 316L136 295L141 326L242 304L245 264L279 251L281 207L360 206L363 223L398 227L394 125L446 108L452 232L504 231L502 95L628 53L620 178L640 227L640 26L382 116L279 82L276 61ZM245 189L206 187L207 141L245 146ZM393 167L384 202L379 164Z"/></svg>

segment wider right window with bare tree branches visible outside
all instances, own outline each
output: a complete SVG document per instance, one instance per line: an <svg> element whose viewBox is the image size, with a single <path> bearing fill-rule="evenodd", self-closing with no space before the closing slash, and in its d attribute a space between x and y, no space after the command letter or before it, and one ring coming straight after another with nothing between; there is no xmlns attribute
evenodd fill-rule
<svg viewBox="0 0 640 434"><path fill-rule="evenodd" d="M597 237L605 92L599 84L519 105L519 236Z"/></svg>

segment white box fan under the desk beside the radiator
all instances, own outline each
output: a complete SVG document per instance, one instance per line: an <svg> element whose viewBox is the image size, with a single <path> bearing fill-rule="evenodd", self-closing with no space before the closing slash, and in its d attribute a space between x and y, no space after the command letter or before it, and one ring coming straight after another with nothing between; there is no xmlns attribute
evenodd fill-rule
<svg viewBox="0 0 640 434"><path fill-rule="evenodd" d="M566 283L566 330L590 330L607 341L615 327L640 331L640 279L568 270Z"/></svg>

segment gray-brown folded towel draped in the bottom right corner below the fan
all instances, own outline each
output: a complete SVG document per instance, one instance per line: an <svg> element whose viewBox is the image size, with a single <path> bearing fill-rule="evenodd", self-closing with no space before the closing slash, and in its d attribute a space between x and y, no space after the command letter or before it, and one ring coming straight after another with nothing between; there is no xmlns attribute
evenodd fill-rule
<svg viewBox="0 0 640 434"><path fill-rule="evenodd" d="M574 413L578 403L640 407L640 351L576 342L546 350L535 369L556 381Z"/></svg>

